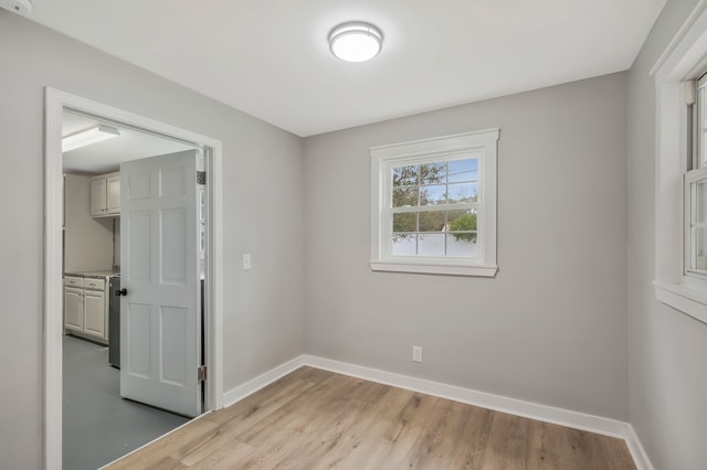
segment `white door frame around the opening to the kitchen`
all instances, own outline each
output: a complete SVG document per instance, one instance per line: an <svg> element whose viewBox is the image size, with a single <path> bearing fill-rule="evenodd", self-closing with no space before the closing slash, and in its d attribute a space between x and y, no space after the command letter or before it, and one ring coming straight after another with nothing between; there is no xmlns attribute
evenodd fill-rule
<svg viewBox="0 0 707 470"><path fill-rule="evenodd" d="M44 127L44 468L62 467L62 216L63 161L62 114L65 109L104 117L150 132L173 137L211 149L207 156L207 197L210 221L207 244L208 290L204 292L209 381L207 407L223 407L223 233L222 143L189 130L159 122L80 96L45 88ZM107 364L106 364L107 366Z"/></svg>

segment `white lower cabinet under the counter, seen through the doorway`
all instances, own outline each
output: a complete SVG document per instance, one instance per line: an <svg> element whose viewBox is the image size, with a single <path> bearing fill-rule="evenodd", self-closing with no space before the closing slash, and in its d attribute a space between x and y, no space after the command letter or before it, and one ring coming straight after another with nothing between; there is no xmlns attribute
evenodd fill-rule
<svg viewBox="0 0 707 470"><path fill-rule="evenodd" d="M64 277L64 329L107 344L106 289L104 279Z"/></svg>

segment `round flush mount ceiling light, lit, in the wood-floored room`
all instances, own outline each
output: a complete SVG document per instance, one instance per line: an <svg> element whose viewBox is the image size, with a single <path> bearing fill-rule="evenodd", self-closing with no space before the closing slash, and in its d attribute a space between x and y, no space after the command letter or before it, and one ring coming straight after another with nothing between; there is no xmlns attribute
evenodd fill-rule
<svg viewBox="0 0 707 470"><path fill-rule="evenodd" d="M355 21L342 23L329 33L329 50L346 62L366 62L378 55L383 34L372 24Z"/></svg>

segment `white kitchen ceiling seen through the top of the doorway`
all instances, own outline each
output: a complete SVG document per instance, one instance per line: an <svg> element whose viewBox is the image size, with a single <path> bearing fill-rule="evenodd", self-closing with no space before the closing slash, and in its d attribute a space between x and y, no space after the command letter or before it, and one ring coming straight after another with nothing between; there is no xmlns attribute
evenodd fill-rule
<svg viewBox="0 0 707 470"><path fill-rule="evenodd" d="M62 136L71 136L96 127L98 124L103 122L85 116L64 113L62 115ZM193 149L191 146L125 129L113 124L108 125L117 128L120 137L64 152L64 171L70 173L108 173L117 171L124 161Z"/></svg>

